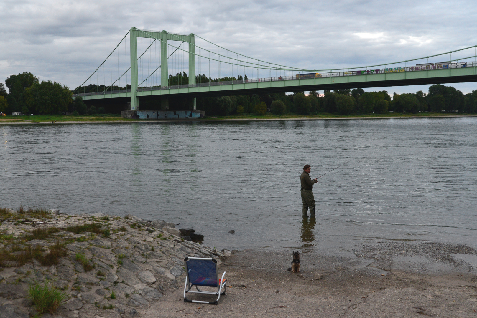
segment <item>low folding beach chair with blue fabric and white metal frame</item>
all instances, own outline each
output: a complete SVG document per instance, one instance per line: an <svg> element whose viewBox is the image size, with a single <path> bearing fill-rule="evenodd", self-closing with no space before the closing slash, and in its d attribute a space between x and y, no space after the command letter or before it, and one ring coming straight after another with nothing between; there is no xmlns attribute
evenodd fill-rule
<svg viewBox="0 0 477 318"><path fill-rule="evenodd" d="M218 279L217 261L214 258L201 258L201 257L186 257L186 285L184 286L184 301L189 303L202 303L217 305L220 295L225 295L226 282L224 279L225 272L222 274L222 278ZM193 286L197 291L190 290ZM217 292L203 291L199 287L217 287ZM216 295L216 301L201 301L187 299L186 293L197 293Z"/></svg>

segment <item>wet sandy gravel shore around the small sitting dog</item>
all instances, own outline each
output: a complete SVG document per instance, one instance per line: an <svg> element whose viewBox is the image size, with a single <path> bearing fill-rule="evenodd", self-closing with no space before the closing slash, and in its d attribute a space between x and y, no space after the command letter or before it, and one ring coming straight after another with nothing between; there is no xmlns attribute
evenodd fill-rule
<svg viewBox="0 0 477 318"><path fill-rule="evenodd" d="M227 272L227 293L217 306L184 303L183 275L141 313L151 318L477 317L477 272L469 263L477 251L468 246L382 240L346 257L301 250L301 273L286 270L291 252L244 250L226 259L220 274Z"/></svg>

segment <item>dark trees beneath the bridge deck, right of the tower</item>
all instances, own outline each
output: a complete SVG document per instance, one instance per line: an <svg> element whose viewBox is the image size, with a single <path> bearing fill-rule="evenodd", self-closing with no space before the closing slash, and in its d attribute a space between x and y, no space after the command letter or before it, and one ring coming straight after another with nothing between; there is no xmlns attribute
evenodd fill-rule
<svg viewBox="0 0 477 318"><path fill-rule="evenodd" d="M387 91L364 92L361 88L325 90L324 94L311 91L292 94L254 94L239 96L197 98L197 109L209 115L239 113L274 114L316 113L369 114L369 113L477 113L477 90L463 94L452 86L435 84L427 93L393 94Z"/></svg>

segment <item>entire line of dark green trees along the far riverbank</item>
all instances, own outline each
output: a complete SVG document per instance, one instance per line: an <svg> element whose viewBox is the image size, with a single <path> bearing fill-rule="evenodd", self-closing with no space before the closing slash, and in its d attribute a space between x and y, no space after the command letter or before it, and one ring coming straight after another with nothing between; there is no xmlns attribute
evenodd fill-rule
<svg viewBox="0 0 477 318"><path fill-rule="evenodd" d="M196 83L224 82L245 80L243 77L209 78L205 74L196 76ZM188 83L186 72L169 75L169 85ZM7 93L5 86L8 88ZM81 97L72 99L72 92L67 86L58 82L41 81L30 72L11 75L5 80L5 86L0 83L0 112L3 113L62 113L74 114L104 113L104 108L87 108ZM79 92L103 92L106 89L130 89L105 85L86 85L77 87ZM151 102L143 103L145 107ZM154 103L157 104L157 103ZM324 94L311 91L304 92L251 94L238 96L202 97L197 98L197 109L207 115L230 115L241 113L274 114L298 113L302 115L316 113L336 114L367 114L367 113L419 113L419 112L453 112L477 113L477 90L463 94L452 86L441 84L431 85L427 93L393 94L387 91L364 92L361 88L327 90ZM118 109L119 111L120 109Z"/></svg>

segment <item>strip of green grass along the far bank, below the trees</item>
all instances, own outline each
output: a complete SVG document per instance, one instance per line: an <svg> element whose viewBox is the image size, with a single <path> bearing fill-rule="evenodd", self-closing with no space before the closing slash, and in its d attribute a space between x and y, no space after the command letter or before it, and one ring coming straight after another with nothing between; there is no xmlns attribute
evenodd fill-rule
<svg viewBox="0 0 477 318"><path fill-rule="evenodd" d="M468 114L455 113L385 113L385 114L350 114L338 115L332 113L319 113L316 115L299 115L295 113L287 113L283 115L273 115L267 113L265 115L257 114L235 114L228 116L207 116L206 118L195 119L198 121L217 121L217 120L286 120L286 119L340 119L340 118L401 118L401 117L442 117L442 116L475 116ZM144 122L156 120L144 119L126 119L121 118L120 114L94 114L94 115L35 115L35 116L1 116L0 123L91 123L91 122ZM167 121L167 120L166 120Z"/></svg>

